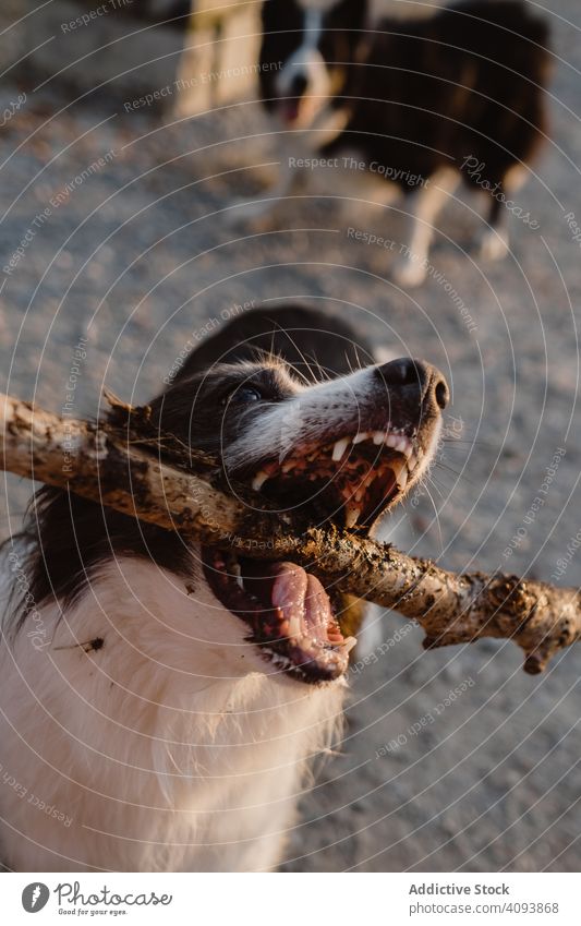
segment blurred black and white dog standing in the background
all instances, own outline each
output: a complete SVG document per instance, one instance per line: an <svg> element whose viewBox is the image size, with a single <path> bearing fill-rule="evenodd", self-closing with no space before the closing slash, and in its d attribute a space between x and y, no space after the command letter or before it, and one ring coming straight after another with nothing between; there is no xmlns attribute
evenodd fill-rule
<svg viewBox="0 0 581 926"><path fill-rule="evenodd" d="M261 94L280 176L266 200L237 205L232 220L268 214L314 169L339 169L335 191L353 200L355 179L367 173L385 192L396 184L413 194L395 273L414 285L440 208L462 179L489 200L482 256L504 256L512 197L546 134L546 23L521 0L464 0L428 19L375 23L367 8L264 3Z"/></svg>

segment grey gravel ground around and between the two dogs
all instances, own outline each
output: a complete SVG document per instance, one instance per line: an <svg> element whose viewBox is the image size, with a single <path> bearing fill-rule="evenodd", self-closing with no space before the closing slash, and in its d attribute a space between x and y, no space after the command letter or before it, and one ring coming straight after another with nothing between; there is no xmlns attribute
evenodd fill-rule
<svg viewBox="0 0 581 926"><path fill-rule="evenodd" d="M570 541L581 529L581 245L566 219L573 213L581 224L578 0L554 0L547 15L553 135L519 194L540 228L516 220L510 257L482 264L469 251L481 204L458 197L433 252L472 330L445 282L432 276L401 291L388 278L392 255L348 237L354 226L400 241L397 211L310 196L289 204L282 229L228 230L221 211L259 191L261 165L273 159L254 105L162 124L144 109L124 113L119 100L61 111L56 85L27 85L0 132L2 267L28 239L0 274L2 388L59 411L86 337L78 414L97 413L104 383L146 399L208 320L300 297L449 377L450 432L459 422L463 431L445 445L431 497L414 497L397 517L408 549L453 569L547 579L566 558L559 581L580 584ZM21 89L0 85L0 108ZM76 183L99 157L106 164ZM70 194L51 205L66 184ZM350 188L339 181L337 191L348 197ZM543 506L528 515L541 491ZM3 533L28 494L9 478ZM383 638L402 626L386 617ZM416 630L406 633L353 673L346 739L304 797L285 869L578 869L579 651L532 678L508 642L427 654L420 644ZM465 690L411 733L456 687ZM382 749L398 737L397 748Z"/></svg>

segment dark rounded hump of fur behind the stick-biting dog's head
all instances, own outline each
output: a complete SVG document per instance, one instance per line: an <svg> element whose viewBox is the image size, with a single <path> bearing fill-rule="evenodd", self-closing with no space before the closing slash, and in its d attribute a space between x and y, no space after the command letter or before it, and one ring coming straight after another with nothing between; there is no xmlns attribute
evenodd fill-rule
<svg viewBox="0 0 581 926"><path fill-rule="evenodd" d="M347 322L304 305L258 306L241 311L202 340L175 381L216 363L256 362L261 353L283 360L310 383L346 376L376 362L371 345Z"/></svg>

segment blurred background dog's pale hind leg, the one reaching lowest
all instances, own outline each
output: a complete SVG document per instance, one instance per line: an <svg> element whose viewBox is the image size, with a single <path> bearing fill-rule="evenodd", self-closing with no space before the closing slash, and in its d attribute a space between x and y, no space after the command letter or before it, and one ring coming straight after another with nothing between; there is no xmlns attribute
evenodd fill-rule
<svg viewBox="0 0 581 926"><path fill-rule="evenodd" d="M419 286L424 281L425 262L434 237L434 223L446 200L458 185L459 179L457 170L445 167L432 175L425 187L413 194L410 241L402 246L402 255L392 269L394 279L401 286Z"/></svg>

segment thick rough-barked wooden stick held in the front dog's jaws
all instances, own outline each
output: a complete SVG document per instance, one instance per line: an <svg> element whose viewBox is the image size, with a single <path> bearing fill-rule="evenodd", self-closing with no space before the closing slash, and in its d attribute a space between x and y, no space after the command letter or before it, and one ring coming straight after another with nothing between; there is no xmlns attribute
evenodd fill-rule
<svg viewBox="0 0 581 926"><path fill-rule="evenodd" d="M3 468L203 543L296 562L327 588L413 617L426 648L512 639L524 651L524 670L535 674L581 637L577 589L517 576L455 575L355 533L308 528L296 515L256 513L220 491L219 467L207 457L189 452L187 472L164 461L165 437L148 426L146 408L110 401L111 420L90 423L0 395Z"/></svg>

